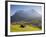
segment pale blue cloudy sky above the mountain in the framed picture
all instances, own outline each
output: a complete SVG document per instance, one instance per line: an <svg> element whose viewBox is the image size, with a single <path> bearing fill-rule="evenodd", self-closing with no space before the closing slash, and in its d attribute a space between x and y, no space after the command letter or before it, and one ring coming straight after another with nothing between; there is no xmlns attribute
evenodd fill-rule
<svg viewBox="0 0 46 37"><path fill-rule="evenodd" d="M41 6L33 6L33 5L10 5L10 15L14 15L16 11L23 10L23 11L30 11L31 9L34 9L37 11L40 15L42 14L42 8Z"/></svg>

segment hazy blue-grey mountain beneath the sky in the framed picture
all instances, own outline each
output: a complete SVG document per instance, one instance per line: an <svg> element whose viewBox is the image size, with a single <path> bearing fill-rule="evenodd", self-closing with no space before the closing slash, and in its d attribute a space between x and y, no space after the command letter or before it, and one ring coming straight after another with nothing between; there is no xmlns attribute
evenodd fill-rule
<svg viewBox="0 0 46 37"><path fill-rule="evenodd" d="M11 22L21 20L33 20L33 19L41 20L41 15L34 9L28 11L19 10L16 11L16 13L13 16L11 16Z"/></svg>

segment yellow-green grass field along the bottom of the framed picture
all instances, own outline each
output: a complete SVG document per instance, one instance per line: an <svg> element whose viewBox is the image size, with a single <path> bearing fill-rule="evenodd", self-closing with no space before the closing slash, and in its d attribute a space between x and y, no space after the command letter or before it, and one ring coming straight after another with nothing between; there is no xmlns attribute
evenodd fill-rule
<svg viewBox="0 0 46 37"><path fill-rule="evenodd" d="M39 27L36 26L32 26L32 24L30 25L26 25L26 27L21 28L21 25L11 25L10 26L10 31L11 32L24 32L24 31L38 31L41 30Z"/></svg>

